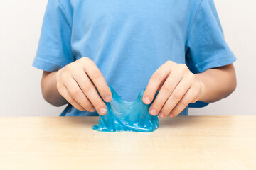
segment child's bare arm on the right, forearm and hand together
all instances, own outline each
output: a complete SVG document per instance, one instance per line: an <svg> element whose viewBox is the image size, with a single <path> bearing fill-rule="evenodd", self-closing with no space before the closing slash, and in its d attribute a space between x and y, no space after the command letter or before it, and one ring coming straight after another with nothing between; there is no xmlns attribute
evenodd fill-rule
<svg viewBox="0 0 256 170"><path fill-rule="evenodd" d="M151 103L154 94L159 90L159 94L149 108L149 113L159 114L161 118L167 115L174 117L189 103L218 101L231 94L235 87L233 64L193 74L185 64L169 61L152 75L144 92L143 101L146 104Z"/></svg>

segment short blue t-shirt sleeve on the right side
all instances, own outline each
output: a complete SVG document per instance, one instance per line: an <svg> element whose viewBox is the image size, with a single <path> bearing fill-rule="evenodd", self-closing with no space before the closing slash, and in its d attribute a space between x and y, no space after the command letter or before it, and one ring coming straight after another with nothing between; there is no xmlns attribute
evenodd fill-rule
<svg viewBox="0 0 256 170"><path fill-rule="evenodd" d="M186 57L194 73L235 62L213 0L202 0L188 29Z"/></svg>

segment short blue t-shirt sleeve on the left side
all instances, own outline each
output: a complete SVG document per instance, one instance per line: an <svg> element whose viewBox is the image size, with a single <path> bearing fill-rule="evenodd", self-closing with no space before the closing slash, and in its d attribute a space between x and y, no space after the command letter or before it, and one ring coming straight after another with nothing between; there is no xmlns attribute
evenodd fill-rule
<svg viewBox="0 0 256 170"><path fill-rule="evenodd" d="M53 72L75 61L71 50L71 24L63 4L48 0L33 67Z"/></svg>

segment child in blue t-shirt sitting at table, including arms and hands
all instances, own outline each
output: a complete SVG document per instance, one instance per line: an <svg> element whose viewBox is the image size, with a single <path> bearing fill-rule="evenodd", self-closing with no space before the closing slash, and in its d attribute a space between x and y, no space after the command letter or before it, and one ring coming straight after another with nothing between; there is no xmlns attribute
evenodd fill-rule
<svg viewBox="0 0 256 170"><path fill-rule="evenodd" d="M33 66L62 115L105 115L109 85L146 104L159 90L149 113L166 118L231 94L235 60L213 0L48 0Z"/></svg>

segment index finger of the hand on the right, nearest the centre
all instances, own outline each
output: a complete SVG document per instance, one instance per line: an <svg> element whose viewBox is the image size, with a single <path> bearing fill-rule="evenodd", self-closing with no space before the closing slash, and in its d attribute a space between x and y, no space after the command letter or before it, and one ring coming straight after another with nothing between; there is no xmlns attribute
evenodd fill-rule
<svg viewBox="0 0 256 170"><path fill-rule="evenodd" d="M167 64L161 65L161 67L154 72L143 94L143 102L145 104L150 104L153 101L156 91L169 74L170 69L167 67Z"/></svg>

